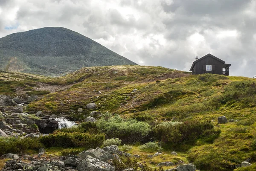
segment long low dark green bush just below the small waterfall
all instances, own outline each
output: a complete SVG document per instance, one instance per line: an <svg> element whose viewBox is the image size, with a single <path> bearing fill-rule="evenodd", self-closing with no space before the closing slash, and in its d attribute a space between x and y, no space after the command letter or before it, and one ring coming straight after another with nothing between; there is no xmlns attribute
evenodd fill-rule
<svg viewBox="0 0 256 171"><path fill-rule="evenodd" d="M41 136L40 142L46 147L84 147L96 148L105 140L103 133L92 135L90 133L64 133L55 131L47 136Z"/></svg>

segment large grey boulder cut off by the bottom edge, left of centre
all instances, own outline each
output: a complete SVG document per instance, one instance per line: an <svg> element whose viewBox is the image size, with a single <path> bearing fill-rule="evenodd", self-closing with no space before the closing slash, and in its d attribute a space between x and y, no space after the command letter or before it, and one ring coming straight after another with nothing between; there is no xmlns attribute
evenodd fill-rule
<svg viewBox="0 0 256 171"><path fill-rule="evenodd" d="M99 159L91 156L86 156L77 166L78 171L114 171L115 168Z"/></svg>

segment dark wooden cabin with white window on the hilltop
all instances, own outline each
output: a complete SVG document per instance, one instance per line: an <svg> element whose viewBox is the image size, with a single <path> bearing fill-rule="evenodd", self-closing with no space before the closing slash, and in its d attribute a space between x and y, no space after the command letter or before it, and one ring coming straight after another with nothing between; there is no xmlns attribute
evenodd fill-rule
<svg viewBox="0 0 256 171"><path fill-rule="evenodd" d="M207 54L199 59L196 57L190 68L190 71L192 71L192 75L207 73L229 75L229 67L231 64L225 63L225 61L222 61L221 59L211 54Z"/></svg>

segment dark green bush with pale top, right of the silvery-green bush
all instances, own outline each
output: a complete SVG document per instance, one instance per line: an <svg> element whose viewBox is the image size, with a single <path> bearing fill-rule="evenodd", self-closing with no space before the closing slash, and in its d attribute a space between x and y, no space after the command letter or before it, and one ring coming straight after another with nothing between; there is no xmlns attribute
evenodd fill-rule
<svg viewBox="0 0 256 171"><path fill-rule="evenodd" d="M210 121L163 122L153 128L155 137L166 143L194 142L206 130L213 129Z"/></svg>

